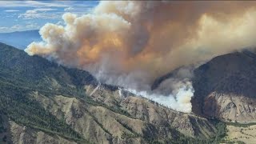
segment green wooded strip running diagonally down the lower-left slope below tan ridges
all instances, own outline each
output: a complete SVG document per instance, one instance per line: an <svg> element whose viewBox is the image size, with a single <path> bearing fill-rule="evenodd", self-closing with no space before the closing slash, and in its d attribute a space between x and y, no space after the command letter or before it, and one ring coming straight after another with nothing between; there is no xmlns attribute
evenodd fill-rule
<svg viewBox="0 0 256 144"><path fill-rule="evenodd" d="M28 98L28 92L28 90L0 83L1 113L24 126L50 134L58 134L77 142L84 141L82 136L71 129L65 121L55 118L38 102Z"/></svg>

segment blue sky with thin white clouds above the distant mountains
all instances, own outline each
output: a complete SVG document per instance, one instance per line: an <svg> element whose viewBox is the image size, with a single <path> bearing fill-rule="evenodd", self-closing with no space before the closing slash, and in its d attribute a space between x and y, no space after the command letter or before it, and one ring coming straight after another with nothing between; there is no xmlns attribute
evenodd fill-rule
<svg viewBox="0 0 256 144"><path fill-rule="evenodd" d="M88 14L97 5L98 1L0 1L0 33L37 30L47 22L62 24L62 14Z"/></svg>

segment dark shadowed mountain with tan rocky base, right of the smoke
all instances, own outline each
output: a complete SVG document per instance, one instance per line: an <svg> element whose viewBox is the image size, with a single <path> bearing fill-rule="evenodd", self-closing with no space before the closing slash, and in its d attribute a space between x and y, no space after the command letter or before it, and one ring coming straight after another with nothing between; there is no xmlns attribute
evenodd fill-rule
<svg viewBox="0 0 256 144"><path fill-rule="evenodd" d="M226 121L256 121L256 55L218 56L194 70L193 111Z"/></svg>

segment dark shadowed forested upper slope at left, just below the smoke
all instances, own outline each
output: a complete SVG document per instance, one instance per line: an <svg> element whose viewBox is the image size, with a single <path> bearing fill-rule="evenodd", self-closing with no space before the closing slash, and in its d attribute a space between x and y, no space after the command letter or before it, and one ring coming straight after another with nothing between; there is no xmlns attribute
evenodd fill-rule
<svg viewBox="0 0 256 144"><path fill-rule="evenodd" d="M38 56L30 57L24 51L3 43L0 43L0 46L0 79L42 90L56 88L56 91L58 87L66 89L69 85L83 86L96 82L96 79L84 70L68 69ZM58 82L58 86L55 86L54 82L49 83L51 81Z"/></svg>

